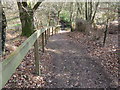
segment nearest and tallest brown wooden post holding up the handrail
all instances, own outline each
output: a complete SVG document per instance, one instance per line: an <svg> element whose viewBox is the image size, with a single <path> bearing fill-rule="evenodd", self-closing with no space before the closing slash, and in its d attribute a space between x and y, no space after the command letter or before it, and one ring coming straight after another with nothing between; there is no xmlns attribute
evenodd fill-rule
<svg viewBox="0 0 120 90"><path fill-rule="evenodd" d="M39 49L38 49L38 40L34 43L34 57L35 57L35 73L40 75L40 68L39 68Z"/></svg>

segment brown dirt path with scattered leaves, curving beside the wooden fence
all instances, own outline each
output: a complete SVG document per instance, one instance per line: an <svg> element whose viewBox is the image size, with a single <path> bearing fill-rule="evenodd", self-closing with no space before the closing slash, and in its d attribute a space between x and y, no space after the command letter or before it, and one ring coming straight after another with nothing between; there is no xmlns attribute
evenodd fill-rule
<svg viewBox="0 0 120 90"><path fill-rule="evenodd" d="M50 37L46 51L52 56L46 76L49 88L106 88L111 80L86 48L66 33Z"/></svg>

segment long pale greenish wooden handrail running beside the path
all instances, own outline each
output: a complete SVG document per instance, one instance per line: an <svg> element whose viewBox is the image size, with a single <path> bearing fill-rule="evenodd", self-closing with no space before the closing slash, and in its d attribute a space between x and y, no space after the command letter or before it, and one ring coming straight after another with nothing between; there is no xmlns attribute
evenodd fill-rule
<svg viewBox="0 0 120 90"><path fill-rule="evenodd" d="M35 51L38 50L38 45L36 43L40 35L45 31L49 30L51 27L47 27L41 30L34 32L23 44L21 44L16 51L14 51L7 59L0 62L0 89L5 86L7 81L16 71L16 68L20 65L21 61L24 59L28 51L33 47ZM59 26L56 26L56 28ZM49 35L48 35L49 36ZM36 47L37 46L37 47ZM38 51L36 51L38 52ZM38 56L38 55L37 55ZM37 57L35 56L35 57ZM38 59L38 58L35 58ZM38 60L37 60L38 62ZM37 65L38 69L38 65ZM38 71L36 71L38 73Z"/></svg>

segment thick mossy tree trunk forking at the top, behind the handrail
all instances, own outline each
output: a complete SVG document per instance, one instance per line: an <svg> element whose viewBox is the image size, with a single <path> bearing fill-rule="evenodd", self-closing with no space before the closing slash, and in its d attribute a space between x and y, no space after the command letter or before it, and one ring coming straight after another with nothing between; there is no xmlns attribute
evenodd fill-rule
<svg viewBox="0 0 120 90"><path fill-rule="evenodd" d="M41 2L37 2L33 8L28 7L27 2L17 2L22 24L22 35L29 37L34 32L34 12Z"/></svg>

